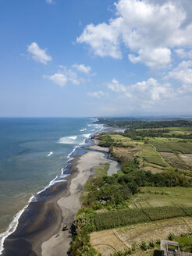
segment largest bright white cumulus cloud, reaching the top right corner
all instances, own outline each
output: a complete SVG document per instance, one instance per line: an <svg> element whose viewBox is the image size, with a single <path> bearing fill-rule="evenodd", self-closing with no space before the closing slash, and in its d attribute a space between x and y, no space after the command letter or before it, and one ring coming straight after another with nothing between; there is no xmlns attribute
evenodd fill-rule
<svg viewBox="0 0 192 256"><path fill-rule="evenodd" d="M186 0L119 0L116 18L88 24L76 41L86 43L95 55L122 58L122 46L131 62L163 67L176 47L192 47L190 2Z"/></svg>

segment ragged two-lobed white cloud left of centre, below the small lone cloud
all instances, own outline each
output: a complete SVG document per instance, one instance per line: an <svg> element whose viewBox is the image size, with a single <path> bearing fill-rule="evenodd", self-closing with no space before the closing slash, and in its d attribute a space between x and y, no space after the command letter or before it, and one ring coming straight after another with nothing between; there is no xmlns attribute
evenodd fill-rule
<svg viewBox="0 0 192 256"><path fill-rule="evenodd" d="M82 69L84 71L82 71ZM66 66L59 66L59 70L51 76L43 76L53 83L58 84L60 87L64 87L68 82L71 84L79 85L84 83L86 79L80 76L80 73L85 73L88 76L91 67L84 66L84 64L76 65L74 64L71 68ZM79 73L78 73L79 72Z"/></svg>

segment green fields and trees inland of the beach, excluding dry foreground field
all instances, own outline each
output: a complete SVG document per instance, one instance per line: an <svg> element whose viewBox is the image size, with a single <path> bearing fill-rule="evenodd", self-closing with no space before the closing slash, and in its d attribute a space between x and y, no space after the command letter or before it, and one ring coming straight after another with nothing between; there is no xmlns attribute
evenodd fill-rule
<svg viewBox="0 0 192 256"><path fill-rule="evenodd" d="M99 136L99 145L109 148L110 156L121 163L121 170L108 176L108 165L101 165L87 181L80 199L82 209L76 215L81 222L76 219L74 223L76 233L70 255L102 255L101 247L106 249L108 244L94 244L92 234L106 232L111 236L110 230L116 234L119 228L130 229L147 222L172 222L173 219L177 222L181 217L192 217L192 122L109 119L105 124L128 127L124 133L101 133ZM186 231L180 229L174 236L166 232L161 239L174 237L182 250L190 251L191 230L187 229L185 236L183 230ZM137 246L123 244L123 250L113 244L111 254L103 255L137 256L140 250L146 251L143 255L158 255L158 239L141 240ZM74 254L75 250L81 250L80 254Z"/></svg>

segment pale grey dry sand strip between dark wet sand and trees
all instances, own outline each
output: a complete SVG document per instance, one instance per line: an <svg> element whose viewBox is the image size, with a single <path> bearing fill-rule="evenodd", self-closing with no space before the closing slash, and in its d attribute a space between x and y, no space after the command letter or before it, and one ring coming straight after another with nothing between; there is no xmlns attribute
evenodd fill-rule
<svg viewBox="0 0 192 256"><path fill-rule="evenodd" d="M84 184L89 177L94 174L93 168L100 163L109 162L105 158L105 154L99 151L88 151L80 156L77 161L73 160L73 169L76 169L76 175L71 180L69 191L62 196L57 204L62 212L62 222L57 232L48 240L46 240L41 248L43 256L66 256L71 242L70 229L62 231L64 226L70 228L73 223L76 212L80 209L80 193L84 189ZM59 223L55 223L57 226Z"/></svg>

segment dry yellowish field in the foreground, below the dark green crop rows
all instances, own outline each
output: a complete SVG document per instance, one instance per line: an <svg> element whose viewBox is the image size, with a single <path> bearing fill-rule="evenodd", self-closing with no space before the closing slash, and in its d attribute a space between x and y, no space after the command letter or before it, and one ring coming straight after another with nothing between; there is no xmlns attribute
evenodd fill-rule
<svg viewBox="0 0 192 256"><path fill-rule="evenodd" d="M154 255L153 251L141 251L140 244L145 241L168 239L169 234L180 236L182 233L189 233L192 228L192 218L164 219L154 222L146 222L124 226L116 229L108 229L91 233L91 245L103 256L114 254L116 251L125 251L127 247L136 247L133 256Z"/></svg>

